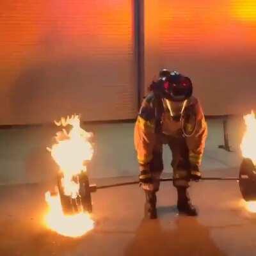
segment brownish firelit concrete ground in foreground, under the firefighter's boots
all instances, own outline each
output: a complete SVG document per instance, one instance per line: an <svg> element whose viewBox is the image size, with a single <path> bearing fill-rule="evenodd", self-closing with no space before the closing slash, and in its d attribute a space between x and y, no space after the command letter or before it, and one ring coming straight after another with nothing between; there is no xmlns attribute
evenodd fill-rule
<svg viewBox="0 0 256 256"><path fill-rule="evenodd" d="M212 173L214 174L214 173ZM255 255L256 214L244 209L236 181L193 183L198 217L177 215L176 193L162 182L158 220L144 218L137 185L93 193L95 229L63 237L44 225L44 193L51 186L2 186L0 255Z"/></svg>

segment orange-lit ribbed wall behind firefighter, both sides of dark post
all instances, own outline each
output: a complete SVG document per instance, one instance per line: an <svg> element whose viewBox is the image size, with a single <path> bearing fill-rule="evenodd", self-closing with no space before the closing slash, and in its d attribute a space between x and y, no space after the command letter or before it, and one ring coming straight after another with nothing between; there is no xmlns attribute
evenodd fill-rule
<svg viewBox="0 0 256 256"><path fill-rule="evenodd" d="M1 1L0 125L135 118L134 1ZM144 2L145 88L170 68L206 115L255 108L254 1Z"/></svg>

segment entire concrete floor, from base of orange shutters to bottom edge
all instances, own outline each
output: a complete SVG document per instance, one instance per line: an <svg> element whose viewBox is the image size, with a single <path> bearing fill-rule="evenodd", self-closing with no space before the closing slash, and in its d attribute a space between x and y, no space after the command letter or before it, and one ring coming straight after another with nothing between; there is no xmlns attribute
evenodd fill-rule
<svg viewBox="0 0 256 256"><path fill-rule="evenodd" d="M220 120L209 120L202 171L205 177L237 177L241 154L241 120L230 122L235 152L223 143ZM133 124L90 125L95 132L95 157L90 180L98 185L136 180L138 166L132 144ZM86 127L87 128L87 127ZM178 216L176 193L162 182L158 220L143 218L143 191L137 185L93 193L95 229L72 239L43 225L44 193L51 189L56 166L45 147L52 127L0 131L0 255L256 255L256 215L241 202L236 181L201 181L190 190L198 217ZM165 176L170 154L164 152ZM37 182L33 184L33 182ZM26 184L25 184L26 183Z"/></svg>

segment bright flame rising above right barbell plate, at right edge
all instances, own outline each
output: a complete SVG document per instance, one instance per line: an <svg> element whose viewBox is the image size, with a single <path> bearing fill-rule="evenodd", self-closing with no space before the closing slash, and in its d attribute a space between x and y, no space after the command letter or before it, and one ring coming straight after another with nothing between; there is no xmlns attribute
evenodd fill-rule
<svg viewBox="0 0 256 256"><path fill-rule="evenodd" d="M244 122L246 124L246 131L240 145L241 152L243 157L252 159L253 164L256 164L256 119L253 111L251 114L244 116Z"/></svg>

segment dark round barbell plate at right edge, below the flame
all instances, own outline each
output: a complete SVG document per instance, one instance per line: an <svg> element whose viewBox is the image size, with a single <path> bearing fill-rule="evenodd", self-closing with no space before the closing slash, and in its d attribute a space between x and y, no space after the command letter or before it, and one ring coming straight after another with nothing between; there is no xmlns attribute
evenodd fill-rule
<svg viewBox="0 0 256 256"><path fill-rule="evenodd" d="M244 158L241 163L239 188L244 200L256 200L256 168L250 158Z"/></svg>

